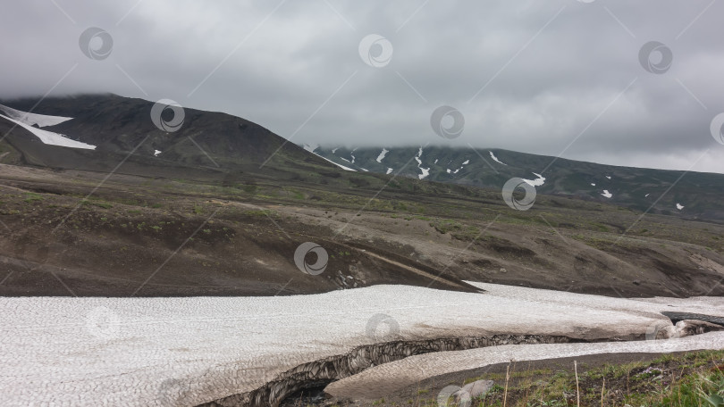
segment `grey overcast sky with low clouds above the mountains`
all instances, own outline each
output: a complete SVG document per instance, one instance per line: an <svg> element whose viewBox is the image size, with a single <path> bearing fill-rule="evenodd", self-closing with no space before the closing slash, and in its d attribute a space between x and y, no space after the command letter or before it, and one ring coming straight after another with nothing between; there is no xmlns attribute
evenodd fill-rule
<svg viewBox="0 0 724 407"><path fill-rule="evenodd" d="M710 130L724 112L721 0L100 3L5 2L0 98L113 92L228 112L299 144L724 173ZM88 28L113 39L109 55L81 51ZM663 48L642 63L651 41ZM435 134L441 105L462 113L459 137Z"/></svg>

